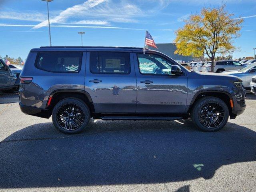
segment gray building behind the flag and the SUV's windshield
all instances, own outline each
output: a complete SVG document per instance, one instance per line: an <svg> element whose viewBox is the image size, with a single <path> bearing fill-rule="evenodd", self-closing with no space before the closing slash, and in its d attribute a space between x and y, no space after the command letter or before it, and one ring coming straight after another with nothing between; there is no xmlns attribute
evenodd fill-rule
<svg viewBox="0 0 256 192"><path fill-rule="evenodd" d="M176 45L174 43L157 43L158 49L150 47L151 50L156 50L166 54L170 58L174 59L176 62L191 62L192 60L199 60L198 58L192 58L192 56L183 56L179 54L174 54L176 51ZM148 48L148 46L146 46Z"/></svg>

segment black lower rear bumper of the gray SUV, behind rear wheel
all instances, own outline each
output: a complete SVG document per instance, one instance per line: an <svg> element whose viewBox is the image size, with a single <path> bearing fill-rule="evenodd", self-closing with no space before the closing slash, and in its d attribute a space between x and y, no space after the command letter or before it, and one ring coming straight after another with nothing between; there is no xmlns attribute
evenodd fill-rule
<svg viewBox="0 0 256 192"><path fill-rule="evenodd" d="M22 105L20 102L19 102L19 105L20 105L20 110L25 114L47 118L47 119L50 118L51 116L51 113L48 109L41 109L37 107L26 106L26 105Z"/></svg>

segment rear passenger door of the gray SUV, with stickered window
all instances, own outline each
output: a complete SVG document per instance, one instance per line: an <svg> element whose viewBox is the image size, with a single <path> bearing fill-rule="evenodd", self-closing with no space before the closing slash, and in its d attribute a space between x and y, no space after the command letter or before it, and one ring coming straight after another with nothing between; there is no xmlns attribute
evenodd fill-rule
<svg viewBox="0 0 256 192"><path fill-rule="evenodd" d="M96 52L91 53L93 54L90 57L90 52L87 52L86 57L85 90L92 98L95 112L135 113L137 89L132 54L125 54L128 54L130 60L128 69L124 67L127 59L124 60L122 55L114 57L111 53L104 52L102 56L99 54L98 57L92 57ZM98 68L93 66L95 62L101 63Z"/></svg>

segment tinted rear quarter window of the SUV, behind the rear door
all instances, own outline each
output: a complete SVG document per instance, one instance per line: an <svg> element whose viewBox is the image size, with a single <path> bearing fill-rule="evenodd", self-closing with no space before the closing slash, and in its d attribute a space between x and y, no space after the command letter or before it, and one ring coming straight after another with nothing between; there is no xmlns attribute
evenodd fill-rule
<svg viewBox="0 0 256 192"><path fill-rule="evenodd" d="M49 72L76 73L80 71L82 52L38 52L35 66Z"/></svg>

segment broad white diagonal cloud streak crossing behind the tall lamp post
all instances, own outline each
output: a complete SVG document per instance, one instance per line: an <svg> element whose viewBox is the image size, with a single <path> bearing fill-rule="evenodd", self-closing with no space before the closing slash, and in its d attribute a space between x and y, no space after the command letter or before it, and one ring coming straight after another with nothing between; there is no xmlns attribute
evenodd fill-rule
<svg viewBox="0 0 256 192"><path fill-rule="evenodd" d="M79 15L80 12L85 12L89 10L90 8L97 6L98 4L105 2L106 0L88 0L82 4L72 6L70 8L67 8L66 10L60 12L60 14L54 18L51 18L51 23L62 23L66 22L68 18L71 16ZM41 28L42 26L45 26L47 24L48 20L45 20L41 22L40 24L34 26L34 29Z"/></svg>

